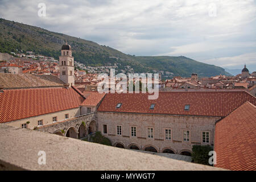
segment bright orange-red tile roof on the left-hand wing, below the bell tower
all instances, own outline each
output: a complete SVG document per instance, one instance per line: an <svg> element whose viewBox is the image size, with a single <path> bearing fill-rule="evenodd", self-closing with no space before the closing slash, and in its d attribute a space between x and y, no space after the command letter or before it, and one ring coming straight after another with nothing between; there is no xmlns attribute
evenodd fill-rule
<svg viewBox="0 0 256 182"><path fill-rule="evenodd" d="M79 107L84 101L73 88L10 89L0 92L0 123Z"/></svg>

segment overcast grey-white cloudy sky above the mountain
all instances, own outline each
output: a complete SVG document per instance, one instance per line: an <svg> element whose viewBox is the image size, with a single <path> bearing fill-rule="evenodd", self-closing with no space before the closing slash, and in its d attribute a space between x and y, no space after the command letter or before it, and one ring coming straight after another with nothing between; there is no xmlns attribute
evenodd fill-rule
<svg viewBox="0 0 256 182"><path fill-rule="evenodd" d="M46 16L38 16L45 3ZM186 56L223 68L256 71L253 0L12 1L0 16L92 40L136 56Z"/></svg>

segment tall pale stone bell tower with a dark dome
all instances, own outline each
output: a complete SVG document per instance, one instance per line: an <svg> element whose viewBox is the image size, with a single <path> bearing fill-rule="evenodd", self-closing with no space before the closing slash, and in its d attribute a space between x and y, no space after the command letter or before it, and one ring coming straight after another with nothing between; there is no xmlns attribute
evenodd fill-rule
<svg viewBox="0 0 256 182"><path fill-rule="evenodd" d="M59 59L60 80L69 86L75 85L74 57L72 57L71 46L66 43L61 47Z"/></svg>

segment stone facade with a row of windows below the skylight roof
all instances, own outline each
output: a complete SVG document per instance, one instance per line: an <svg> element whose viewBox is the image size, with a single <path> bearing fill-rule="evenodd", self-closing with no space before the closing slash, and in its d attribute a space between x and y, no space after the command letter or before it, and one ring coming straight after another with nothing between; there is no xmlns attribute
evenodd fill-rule
<svg viewBox="0 0 256 182"><path fill-rule="evenodd" d="M129 148L133 144L140 150L152 146L158 152L168 148L180 154L183 151L191 152L193 144L204 144L203 131L209 131L209 144L213 145L214 123L220 117L97 112L97 119L98 130L111 140L113 146L120 143ZM104 124L108 127L107 134L103 132ZM117 135L117 125L122 126L122 135ZM136 137L131 137L131 126L137 127ZM147 127L154 129L154 138L147 137ZM171 129L171 140L166 140L165 129ZM184 130L189 130L189 142L183 141Z"/></svg>

